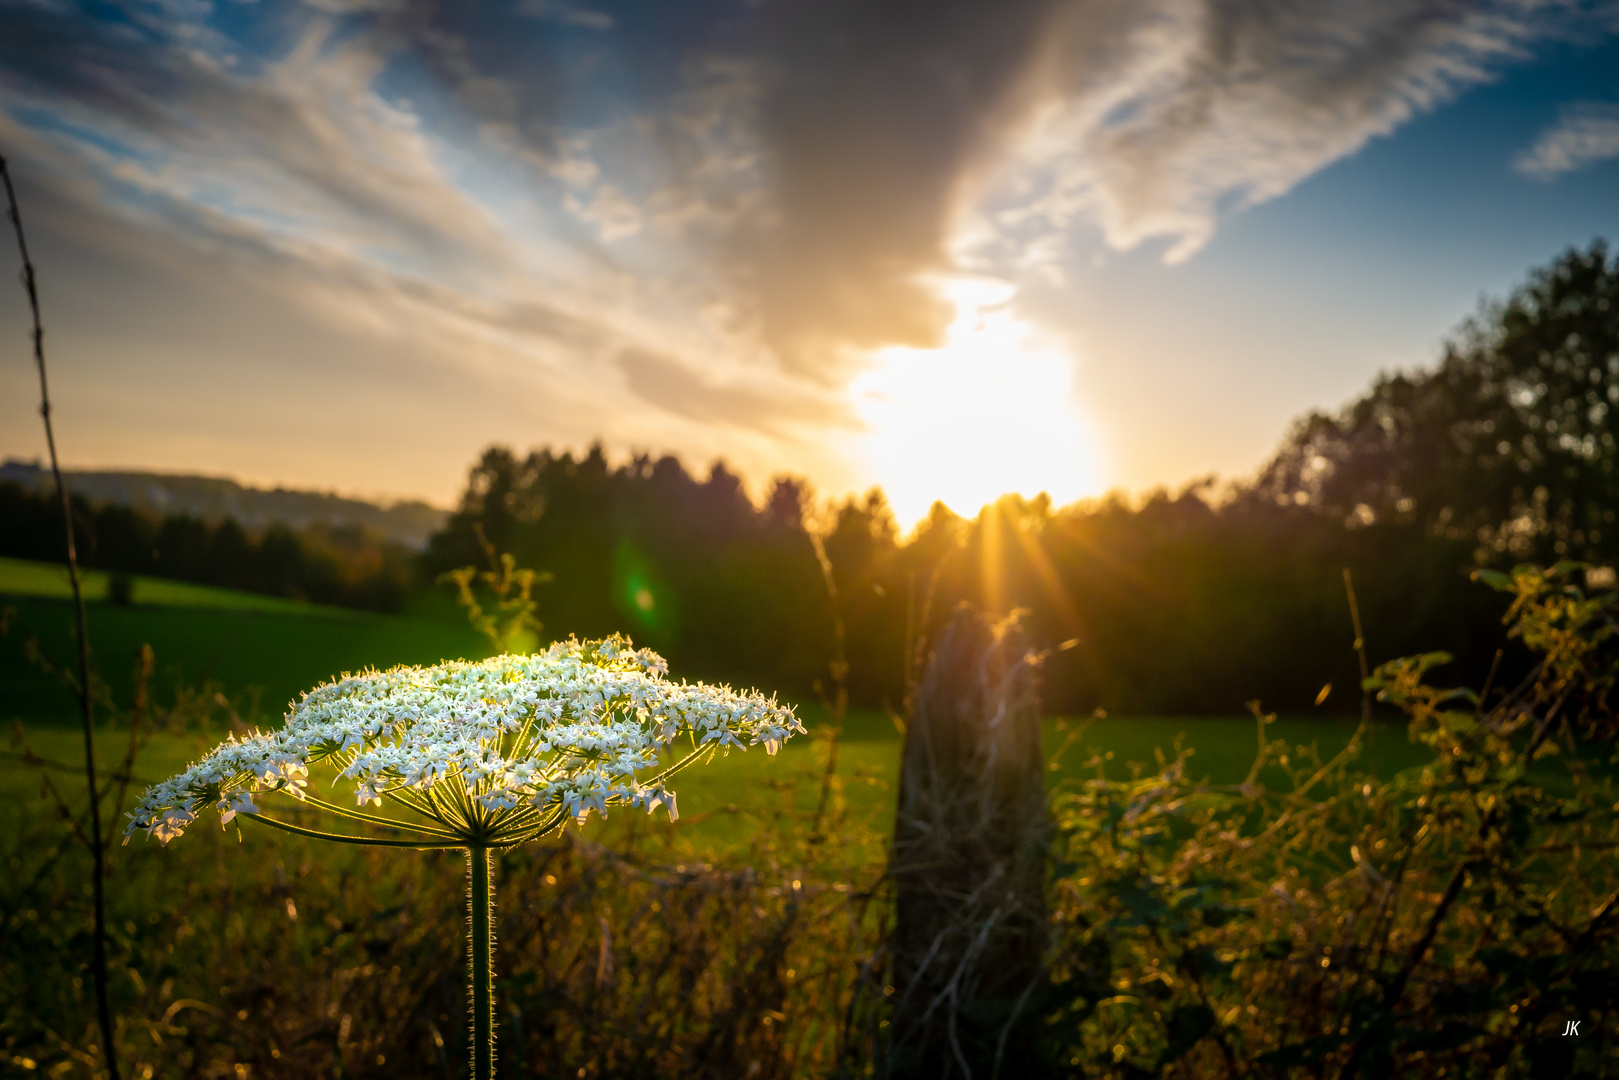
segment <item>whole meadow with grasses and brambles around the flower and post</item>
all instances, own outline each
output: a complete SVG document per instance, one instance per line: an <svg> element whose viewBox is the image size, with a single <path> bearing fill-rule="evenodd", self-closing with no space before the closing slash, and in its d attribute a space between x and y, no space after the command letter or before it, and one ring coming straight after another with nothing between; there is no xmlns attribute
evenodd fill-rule
<svg viewBox="0 0 1619 1080"><path fill-rule="evenodd" d="M83 748L71 696L24 656L29 638L66 656L68 609L49 570L0 570L0 709L15 721L0 755L0 1069L97 1077L87 855L62 813L84 806ZM120 704L97 729L113 814L227 732L277 722L269 701L340 670L487 648L448 604L372 615L138 581L133 604L89 609ZM1557 640L1569 649L1579 635ZM107 657L142 643L157 675L125 777L133 664ZM1355 1075L1362 1054L1376 1075L1394 1046L1421 1075L1477 1072L1459 1069L1468 1062L1600 1075L1614 1059L1611 1040L1577 1054L1551 1038L1575 999L1600 1023L1614 997L1600 963L1611 938L1598 934L1614 907L1601 902L1614 887L1613 763L1572 733L1553 756L1540 735L1525 751L1517 721L1475 725L1441 709L1452 698L1423 698L1410 672L1420 665L1386 675L1407 716L1373 722L1358 755L1326 767L1358 717L1041 721L1052 938L1039 1028L1018 1038L1072 1065L1052 1075L1240 1075L1240 1061ZM810 733L779 755L682 774L677 823L617 810L500 855L500 1075L903 1075L884 1018L902 721L855 708L839 725L816 701L798 714ZM1522 811L1468 855L1496 805ZM1473 873L1515 892L1486 886L1436 938ZM463 874L457 853L317 845L251 819L168 847L115 845L108 970L125 1075L466 1075ZM1386 915L1366 923L1378 895ZM1368 926L1379 950L1358 939ZM1376 965L1413 941L1412 955L1431 941L1443 962L1402 983L1402 1004ZM971 1015L1005 1015L984 1007ZM1436 1040L1391 1020L1409 1010L1460 1020Z"/></svg>

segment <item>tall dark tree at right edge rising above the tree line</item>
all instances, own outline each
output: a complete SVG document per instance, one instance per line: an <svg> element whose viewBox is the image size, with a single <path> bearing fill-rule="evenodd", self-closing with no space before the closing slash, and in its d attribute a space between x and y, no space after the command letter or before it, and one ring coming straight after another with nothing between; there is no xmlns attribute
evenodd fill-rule
<svg viewBox="0 0 1619 1080"><path fill-rule="evenodd" d="M1481 560L1619 554L1619 259L1595 241L1486 306L1431 371L1294 427L1258 483L1350 525L1409 521Z"/></svg>

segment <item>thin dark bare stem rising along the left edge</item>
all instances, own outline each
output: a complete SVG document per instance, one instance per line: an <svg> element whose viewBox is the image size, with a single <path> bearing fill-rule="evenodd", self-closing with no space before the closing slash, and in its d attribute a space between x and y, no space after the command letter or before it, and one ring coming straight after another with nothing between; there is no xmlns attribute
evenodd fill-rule
<svg viewBox="0 0 1619 1080"><path fill-rule="evenodd" d="M39 287L34 280L34 262L28 256L28 240L23 236L23 215L16 209L16 189L11 186L11 170L0 155L0 181L5 181L6 210L11 230L16 233L16 249L23 257L23 288L28 291L28 308L34 316L34 366L39 369L39 416L45 421L45 445L50 449L50 473L57 479L57 499L62 502L62 521L68 534L68 583L73 586L73 619L79 644L79 711L84 714L84 784L91 798L91 895L96 910L96 933L91 936L91 975L96 981L96 1023L100 1027L102 1051L107 1072L118 1080L118 1046L113 1041L112 1009L107 1006L107 897L105 837L100 831L100 789L96 785L96 733L91 729L91 640L84 625L84 591L79 586L79 555L73 546L73 508L68 505L68 489L62 483L62 465L57 460L57 436L50 426L50 389L45 381L45 329L39 319Z"/></svg>

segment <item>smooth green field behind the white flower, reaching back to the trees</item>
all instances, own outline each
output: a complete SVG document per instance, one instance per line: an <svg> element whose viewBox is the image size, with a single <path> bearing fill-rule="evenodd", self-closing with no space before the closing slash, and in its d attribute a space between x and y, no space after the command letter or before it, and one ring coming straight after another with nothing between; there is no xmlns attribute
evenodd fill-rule
<svg viewBox="0 0 1619 1080"><path fill-rule="evenodd" d="M99 670L118 699L128 699L133 657L149 643L157 657L152 690L159 701L186 688L207 688L209 695L219 690L248 724L274 725L283 703L345 670L486 654L482 640L453 614L376 615L152 578L136 581L134 604L113 606L96 599L105 596L105 575L86 575L86 585ZM24 657L29 636L58 662L71 657L73 609L66 596L60 567L0 560L0 604L13 612L8 635L0 638L0 721L21 721L36 751L62 763L63 782L71 785L71 764L83 755L74 699ZM756 834L754 811L784 803L814 806L827 745L819 735L829 717L814 704L801 706L800 716L811 737L795 738L776 758L761 750L733 753L682 777L682 816L693 823L695 834L729 845ZM207 733L152 738L136 763L138 780L170 776L207 750L223 735L223 717L220 709ZM1344 746L1353 727L1339 717L1284 719L1266 733L1294 748L1316 746L1324 758ZM1132 763L1153 771L1159 753L1174 756L1177 738L1193 751L1192 776L1214 784L1240 780L1256 746L1250 717L1052 719L1046 722L1047 782L1056 787L1094 776L1090 763L1098 756L1111 777L1130 776ZM121 745L121 733L108 730L100 755L110 763ZM839 740L839 792L852 813L874 814L879 829L892 814L899 751L899 730L886 714L850 712ZM1379 725L1363 764L1387 776L1421 759L1404 727ZM1279 769L1263 779L1285 782ZM16 792L18 785L37 789L37 777L16 758L0 759L0 790Z"/></svg>

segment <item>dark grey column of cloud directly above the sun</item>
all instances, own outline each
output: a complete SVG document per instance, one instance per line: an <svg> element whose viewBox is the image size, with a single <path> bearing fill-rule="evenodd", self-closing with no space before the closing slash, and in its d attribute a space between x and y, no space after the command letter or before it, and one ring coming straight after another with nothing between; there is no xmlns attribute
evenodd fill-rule
<svg viewBox="0 0 1619 1080"><path fill-rule="evenodd" d="M790 356L937 345L958 199L1033 104L1056 5L801 0L764 28L769 220L748 251L766 334Z"/></svg>

